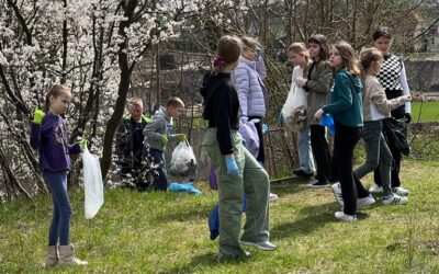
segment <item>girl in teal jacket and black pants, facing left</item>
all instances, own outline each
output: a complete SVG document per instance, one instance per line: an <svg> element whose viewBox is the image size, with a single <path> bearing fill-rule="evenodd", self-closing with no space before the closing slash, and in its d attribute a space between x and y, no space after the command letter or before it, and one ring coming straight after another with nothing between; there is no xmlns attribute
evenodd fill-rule
<svg viewBox="0 0 439 274"><path fill-rule="evenodd" d="M335 81L329 104L315 113L320 119L326 113L334 117L335 138L333 160L338 162L337 171L341 185L345 207L336 212L339 220L357 220L357 187L353 180L353 149L360 139L363 125L360 68L351 45L338 42L333 45L329 64L335 70ZM336 171L335 171L336 172Z"/></svg>

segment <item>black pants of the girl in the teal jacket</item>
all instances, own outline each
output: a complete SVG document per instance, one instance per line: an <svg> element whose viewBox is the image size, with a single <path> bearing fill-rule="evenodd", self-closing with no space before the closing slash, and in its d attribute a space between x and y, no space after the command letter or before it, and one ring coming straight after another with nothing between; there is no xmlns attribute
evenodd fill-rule
<svg viewBox="0 0 439 274"><path fill-rule="evenodd" d="M362 127L344 126L335 122L336 136L334 138L334 161L338 164L338 178L341 185L341 195L345 202L345 214L357 213L357 186L353 179L353 149L361 137Z"/></svg>

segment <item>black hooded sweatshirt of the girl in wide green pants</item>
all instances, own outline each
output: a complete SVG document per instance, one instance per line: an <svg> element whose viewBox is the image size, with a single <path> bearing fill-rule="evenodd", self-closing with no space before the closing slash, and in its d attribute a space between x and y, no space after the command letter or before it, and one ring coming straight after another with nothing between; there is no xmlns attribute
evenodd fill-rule
<svg viewBox="0 0 439 274"><path fill-rule="evenodd" d="M206 73L200 94L204 100L203 118L209 121L209 127L216 127L221 153L233 153L230 130L239 129L239 100L230 73Z"/></svg>

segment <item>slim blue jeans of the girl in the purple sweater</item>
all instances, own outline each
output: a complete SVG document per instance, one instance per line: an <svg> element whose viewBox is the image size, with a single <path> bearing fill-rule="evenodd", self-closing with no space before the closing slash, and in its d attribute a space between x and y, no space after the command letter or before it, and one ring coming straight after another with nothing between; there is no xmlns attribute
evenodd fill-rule
<svg viewBox="0 0 439 274"><path fill-rule="evenodd" d="M70 243L71 206L67 193L67 171L43 171L44 182L52 191L54 215L48 230L48 246Z"/></svg>

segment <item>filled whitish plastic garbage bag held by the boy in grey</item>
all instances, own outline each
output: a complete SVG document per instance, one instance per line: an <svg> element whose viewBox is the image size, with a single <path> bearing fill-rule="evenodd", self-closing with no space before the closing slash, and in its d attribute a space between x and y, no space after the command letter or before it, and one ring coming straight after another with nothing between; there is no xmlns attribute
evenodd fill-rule
<svg viewBox="0 0 439 274"><path fill-rule="evenodd" d="M180 141L172 152L169 167L171 175L181 178L194 178L196 174L196 158L192 147L187 140Z"/></svg>

